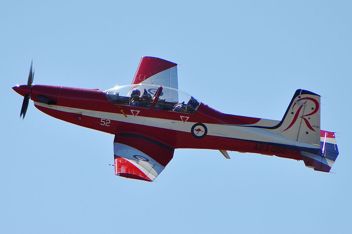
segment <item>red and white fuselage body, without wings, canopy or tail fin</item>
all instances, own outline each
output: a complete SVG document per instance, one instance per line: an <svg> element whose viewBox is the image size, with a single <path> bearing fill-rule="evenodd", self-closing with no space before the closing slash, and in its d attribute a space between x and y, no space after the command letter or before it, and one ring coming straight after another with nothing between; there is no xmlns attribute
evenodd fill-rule
<svg viewBox="0 0 352 234"><path fill-rule="evenodd" d="M302 160L302 148L311 145L290 140L258 124L276 125L279 121L228 115L200 103L195 113L157 110L114 104L106 92L95 89L32 85L13 89L21 95L29 93L40 111L63 121L110 134L136 133L162 139L172 148L218 149L276 155ZM55 100L48 105L38 96ZM320 146L313 147L320 150Z"/></svg>

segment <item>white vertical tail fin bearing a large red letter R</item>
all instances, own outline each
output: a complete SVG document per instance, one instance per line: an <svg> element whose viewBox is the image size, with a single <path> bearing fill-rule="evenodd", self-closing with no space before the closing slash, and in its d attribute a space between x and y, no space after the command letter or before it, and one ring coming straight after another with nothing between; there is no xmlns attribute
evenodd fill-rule
<svg viewBox="0 0 352 234"><path fill-rule="evenodd" d="M275 131L287 138L320 145L320 95L297 90Z"/></svg>

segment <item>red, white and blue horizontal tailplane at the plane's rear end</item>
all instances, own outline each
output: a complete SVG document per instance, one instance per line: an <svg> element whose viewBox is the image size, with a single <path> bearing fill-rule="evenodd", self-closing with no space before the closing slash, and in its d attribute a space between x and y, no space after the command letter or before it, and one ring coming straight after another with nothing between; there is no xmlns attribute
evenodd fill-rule
<svg viewBox="0 0 352 234"><path fill-rule="evenodd" d="M313 168L315 171L329 172L339 155L335 134L321 130L320 139L321 152L319 154L301 152L302 159L306 167Z"/></svg>

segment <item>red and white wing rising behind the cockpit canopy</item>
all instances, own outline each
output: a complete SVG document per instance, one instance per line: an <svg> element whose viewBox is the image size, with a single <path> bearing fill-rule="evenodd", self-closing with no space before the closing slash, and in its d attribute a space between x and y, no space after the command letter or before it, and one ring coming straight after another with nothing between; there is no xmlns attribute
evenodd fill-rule
<svg viewBox="0 0 352 234"><path fill-rule="evenodd" d="M161 58L142 57L132 85L140 83L178 89L177 64Z"/></svg>

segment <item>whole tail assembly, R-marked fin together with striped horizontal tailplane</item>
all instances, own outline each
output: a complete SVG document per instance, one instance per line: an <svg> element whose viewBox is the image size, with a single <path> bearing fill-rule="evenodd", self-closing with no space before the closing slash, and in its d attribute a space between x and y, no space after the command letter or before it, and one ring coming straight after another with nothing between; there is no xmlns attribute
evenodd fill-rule
<svg viewBox="0 0 352 234"><path fill-rule="evenodd" d="M320 130L320 95L297 90L282 121L274 128L282 136L320 146L320 149L301 151L302 159L307 167L315 171L330 171L339 150L335 134Z"/></svg>

